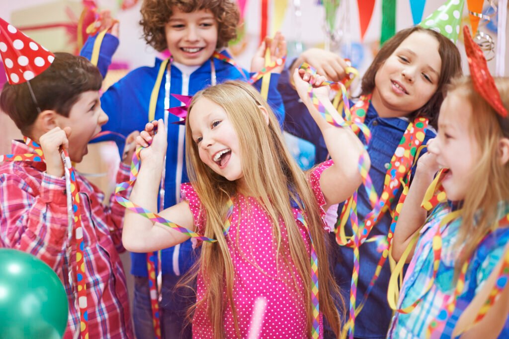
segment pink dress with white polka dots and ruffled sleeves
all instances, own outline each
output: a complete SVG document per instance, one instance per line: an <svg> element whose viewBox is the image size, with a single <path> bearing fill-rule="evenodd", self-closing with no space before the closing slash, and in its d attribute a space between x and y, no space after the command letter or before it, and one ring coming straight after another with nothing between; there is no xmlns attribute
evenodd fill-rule
<svg viewBox="0 0 509 339"><path fill-rule="evenodd" d="M320 176L323 170L331 165L332 161L321 164L309 177L319 206L325 205L320 188ZM197 231L203 234L205 218L203 213L200 214L200 199L190 184L183 184L181 190L183 200L189 202ZM254 327L256 328L255 333L259 333L259 338L307 337L306 310L303 297L299 294L299 291L302 293L305 290L303 282L299 278L289 254L286 255L290 262L289 265L285 264L281 257L276 262L276 241L272 238L270 218L252 197L238 195L235 197L234 203L232 226L227 235L227 243L235 269L233 298L241 337L248 337L249 333L252 333L250 331L253 331L251 329L253 322L261 322ZM294 208L295 217L297 217L297 212L298 210ZM323 208L320 213L324 217ZM310 255L307 231L300 223L297 225ZM289 253L285 227L281 227L281 233L281 246L284 247L286 253ZM281 252L285 253L285 251ZM296 277L296 284L292 279L292 274ZM205 289L203 276L199 275L196 287L197 300L203 298ZM255 316L255 304L259 299L265 299L265 311L261 316ZM194 313L192 322L194 338L213 337L213 328L207 319L206 309L207 305L204 303ZM231 307L227 307L223 317L225 337L236 338ZM322 332L321 326L320 337L322 337Z"/></svg>

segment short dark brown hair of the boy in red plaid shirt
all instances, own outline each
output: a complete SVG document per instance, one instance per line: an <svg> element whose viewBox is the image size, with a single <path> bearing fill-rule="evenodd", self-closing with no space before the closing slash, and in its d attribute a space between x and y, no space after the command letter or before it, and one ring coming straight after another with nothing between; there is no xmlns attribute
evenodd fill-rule
<svg viewBox="0 0 509 339"><path fill-rule="evenodd" d="M69 116L79 96L101 88L102 76L87 58L69 53L55 53L51 66L30 80L41 111L53 110ZM7 113L25 136L30 134L39 112L26 82L6 83L0 95L0 109Z"/></svg>

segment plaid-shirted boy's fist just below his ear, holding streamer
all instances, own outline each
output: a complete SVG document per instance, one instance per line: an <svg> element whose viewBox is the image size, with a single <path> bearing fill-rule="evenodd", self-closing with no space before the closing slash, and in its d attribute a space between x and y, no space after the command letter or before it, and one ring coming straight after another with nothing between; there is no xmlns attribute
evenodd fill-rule
<svg viewBox="0 0 509 339"><path fill-rule="evenodd" d="M55 127L51 131L43 134L39 139L44 158L46 160L46 173L49 175L62 177L64 175L64 163L60 156L61 147L69 148L69 136L71 128Z"/></svg>

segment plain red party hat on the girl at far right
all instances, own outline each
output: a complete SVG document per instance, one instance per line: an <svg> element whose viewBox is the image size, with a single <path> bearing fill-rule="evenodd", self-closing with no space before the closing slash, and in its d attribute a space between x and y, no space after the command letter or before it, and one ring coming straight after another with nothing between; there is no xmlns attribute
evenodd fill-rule
<svg viewBox="0 0 509 339"><path fill-rule="evenodd" d="M507 110L502 104L495 81L488 70L486 58L480 47L472 40L468 26L463 28L463 36L465 37L465 51L468 67L470 68L470 77L475 90L501 117L506 117Z"/></svg>

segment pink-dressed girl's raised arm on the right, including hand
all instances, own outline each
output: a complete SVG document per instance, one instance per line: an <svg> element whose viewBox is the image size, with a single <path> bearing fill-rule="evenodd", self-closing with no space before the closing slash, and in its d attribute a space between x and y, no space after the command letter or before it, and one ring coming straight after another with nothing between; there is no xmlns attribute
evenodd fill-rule
<svg viewBox="0 0 509 339"><path fill-rule="evenodd" d="M327 202L325 210L331 205L345 201L360 186L362 179L358 170L359 158L366 161L366 171L371 166L370 157L362 142L349 128L337 128L330 125L320 114L309 98L309 82L314 82L313 91L328 111L335 110L329 100L329 87L321 86L324 77L312 77L303 70L295 70L293 75L295 88L309 113L317 122L334 165L325 169L320 178L320 187Z"/></svg>

